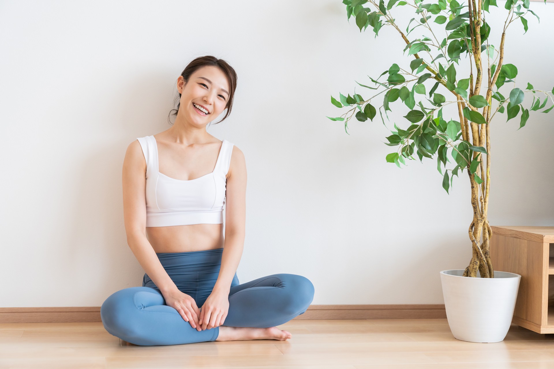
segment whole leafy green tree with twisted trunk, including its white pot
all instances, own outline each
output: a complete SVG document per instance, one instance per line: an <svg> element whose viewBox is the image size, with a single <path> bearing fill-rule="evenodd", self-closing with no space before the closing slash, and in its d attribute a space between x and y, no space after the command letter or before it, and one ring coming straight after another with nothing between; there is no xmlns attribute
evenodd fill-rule
<svg viewBox="0 0 554 369"><path fill-rule="evenodd" d="M545 108L554 89L538 90L529 82L524 90L519 87L506 90L506 97L500 92L506 82L515 82L517 76L517 67L504 61L506 29L517 22L527 32L526 16L532 14L540 19L529 9L529 0L507 0L506 11L496 11L505 13L502 15L506 20L500 40L493 43L489 40L491 28L486 22L485 12L497 7L496 0L470 0L467 4L460 4L457 0L425 3L422 0L388 0L387 3L384 0L343 0L343 3L346 4L347 18L355 17L360 32L371 27L377 37L384 25L392 27L406 42L404 54L407 53L409 67L400 66L404 63L392 64L377 79L370 77L375 87L356 82L367 89L377 90L370 98L364 99L358 93L353 93L353 96L340 93L339 100L331 96L331 103L336 107L352 108L340 117L327 118L344 121L348 133L347 123L353 115L360 122L373 121L378 111L385 124L383 112L388 120L387 111L392 111L394 103L397 106L403 103L408 110L403 117L409 126L400 128L394 123L396 131L391 130L392 135L387 137L388 143L385 144L398 149L386 155L386 161L401 168L401 164L406 165L406 159L414 159L414 153L420 161L423 157L432 159L436 153L437 169L447 193L454 175L464 173L465 169L471 186L473 220L468 233L473 252L465 269L440 272L448 324L459 340L502 341L514 315L521 276L494 271L490 261L492 232L487 219L489 127L493 117L499 118L506 113L506 121L520 117L520 129L525 126L531 111L548 113L554 107ZM391 14L391 9L399 6L412 7L416 14L405 32L404 24L398 24ZM410 36L417 28L423 31L421 35ZM439 37L442 34L446 37ZM469 64L469 75L456 73L460 63ZM382 76L386 80L379 81ZM533 97L528 108L523 105L526 92ZM381 99L383 102L379 105ZM453 111L457 107L457 114L443 116L443 107L450 104L456 104ZM447 169L447 162L453 168Z"/></svg>

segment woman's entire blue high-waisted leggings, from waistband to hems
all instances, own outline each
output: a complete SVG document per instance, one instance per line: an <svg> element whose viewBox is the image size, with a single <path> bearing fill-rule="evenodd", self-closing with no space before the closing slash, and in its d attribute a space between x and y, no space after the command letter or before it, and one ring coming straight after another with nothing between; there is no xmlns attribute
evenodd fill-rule
<svg viewBox="0 0 554 369"><path fill-rule="evenodd" d="M177 288L198 308L212 293L223 248L157 253ZM239 284L237 273L229 290L224 326L269 328L304 314L314 299L314 285L297 274L271 274ZM120 339L141 346L181 345L215 341L219 327L197 331L171 306L147 274L142 287L129 287L108 297L100 308L104 328ZM199 317L198 317L199 318Z"/></svg>

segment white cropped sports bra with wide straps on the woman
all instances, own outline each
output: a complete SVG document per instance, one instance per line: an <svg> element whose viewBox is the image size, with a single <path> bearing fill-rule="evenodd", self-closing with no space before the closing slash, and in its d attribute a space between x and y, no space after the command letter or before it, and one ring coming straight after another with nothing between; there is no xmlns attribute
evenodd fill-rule
<svg viewBox="0 0 554 369"><path fill-rule="evenodd" d="M137 138L146 159L146 226L222 224L227 175L233 144L223 140L212 173L191 180L168 177L158 170L154 136Z"/></svg>

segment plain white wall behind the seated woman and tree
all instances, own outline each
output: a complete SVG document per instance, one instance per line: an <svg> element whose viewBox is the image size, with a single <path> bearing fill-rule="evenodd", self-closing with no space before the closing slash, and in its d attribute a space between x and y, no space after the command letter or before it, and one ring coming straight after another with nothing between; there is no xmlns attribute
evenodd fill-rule
<svg viewBox="0 0 554 369"><path fill-rule="evenodd" d="M411 9L393 9L403 29ZM541 22L529 15L525 35L512 23L505 63L518 67L521 89L550 91L554 4L531 9ZM448 195L436 159L385 162L397 147L383 143L391 133L380 119L354 119L348 135L326 118L346 111L330 95L356 87L367 98L355 81L408 67L404 46L391 27L360 33L338 0L0 2L0 306L100 306L141 285L126 244L122 160L136 137L170 127L177 77L202 55L239 76L232 115L208 132L247 160L240 281L301 274L315 285L312 304L444 303L439 271L471 257L465 173ZM406 106L392 108L387 126L406 128ZM519 131L519 117L495 117L491 225L553 224L553 117L531 112Z"/></svg>

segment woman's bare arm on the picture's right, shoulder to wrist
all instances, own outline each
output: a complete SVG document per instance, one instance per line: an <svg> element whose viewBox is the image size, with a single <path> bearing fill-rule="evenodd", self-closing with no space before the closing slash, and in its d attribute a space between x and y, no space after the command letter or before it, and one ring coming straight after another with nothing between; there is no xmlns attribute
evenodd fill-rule
<svg viewBox="0 0 554 369"><path fill-rule="evenodd" d="M246 221L246 162L243 152L233 146L225 194L225 243L219 276L213 292L228 294L244 247Z"/></svg>

